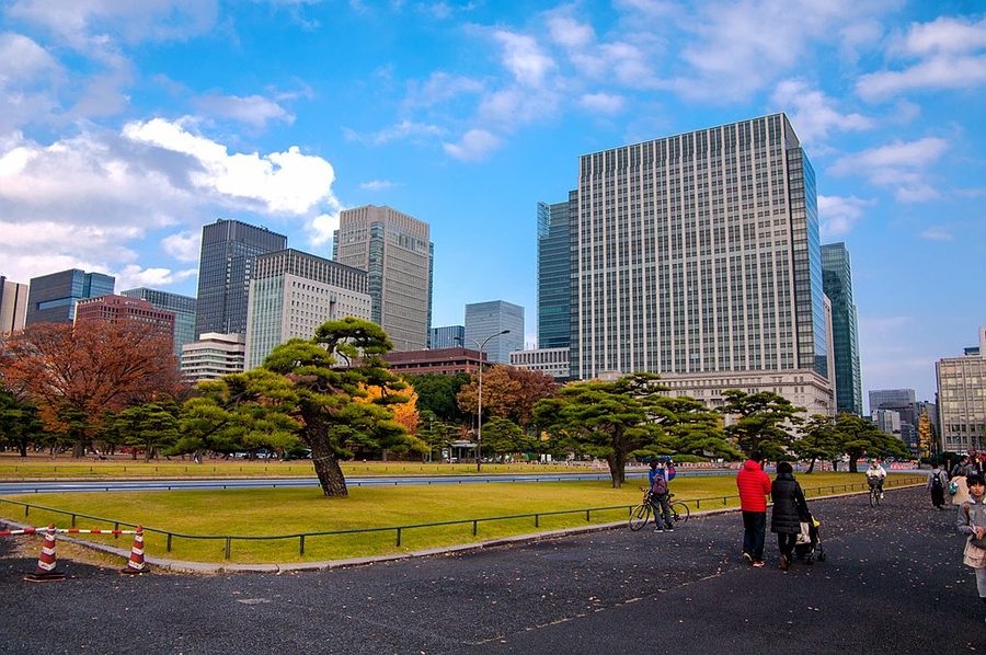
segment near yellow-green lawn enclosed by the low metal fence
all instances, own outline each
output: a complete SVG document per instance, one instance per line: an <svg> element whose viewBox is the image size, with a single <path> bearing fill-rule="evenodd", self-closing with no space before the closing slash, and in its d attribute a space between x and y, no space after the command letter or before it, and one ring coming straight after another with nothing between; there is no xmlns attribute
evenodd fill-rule
<svg viewBox="0 0 986 655"><path fill-rule="evenodd" d="M847 485L846 491L863 489L862 474L814 473L800 475L806 495L833 493L830 485ZM891 485L917 481L916 476L892 475ZM231 490L142 493L25 494L11 499L87 514L131 524L141 524L194 536L285 536L303 532L386 528L449 520L503 517L518 514L618 507L591 513L591 522L623 520L627 506L640 502L640 481L631 480L620 490L606 481L550 483L489 483L463 485L411 485L400 487L354 487L348 498L326 498L318 489ZM855 489L853 489L855 485ZM822 489L819 489L822 487ZM828 489L825 489L828 487ZM736 506L732 475L686 478L672 483L676 499L688 502L696 510ZM841 492L842 489L835 490ZM20 506L0 503L0 517L35 526L54 521L70 527L70 517L31 509L27 518ZM824 521L824 516L819 517ZM512 535L555 530L587 525L585 513L483 521L478 535L471 522L466 525L411 528L402 530L401 545L395 531L360 535L307 537L305 554L299 554L297 537L282 540L233 540L230 561L237 563L302 562L335 560L366 555L408 552L442 545L470 543ZM106 528L90 519L78 518L78 528ZM112 538L91 537L112 541ZM116 544L128 545L128 537ZM172 539L171 553L165 552L165 537L156 532L145 536L151 556L199 562L225 561L226 540L202 540L186 537Z"/></svg>

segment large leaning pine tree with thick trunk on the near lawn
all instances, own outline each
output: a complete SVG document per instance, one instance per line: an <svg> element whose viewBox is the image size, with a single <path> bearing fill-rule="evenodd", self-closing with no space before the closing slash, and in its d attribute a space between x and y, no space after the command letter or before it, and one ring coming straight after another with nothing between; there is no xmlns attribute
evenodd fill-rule
<svg viewBox="0 0 986 655"><path fill-rule="evenodd" d="M392 347L376 323L352 317L328 321L311 340L277 346L260 369L214 383L211 399L197 399L198 417L218 410L218 421L208 428L290 430L311 448L323 493L346 496L339 462L354 448L427 452L424 441L393 421L390 405L408 399L400 393L405 384L382 358ZM379 393L366 391L372 387ZM370 402L360 402L369 395Z"/></svg>

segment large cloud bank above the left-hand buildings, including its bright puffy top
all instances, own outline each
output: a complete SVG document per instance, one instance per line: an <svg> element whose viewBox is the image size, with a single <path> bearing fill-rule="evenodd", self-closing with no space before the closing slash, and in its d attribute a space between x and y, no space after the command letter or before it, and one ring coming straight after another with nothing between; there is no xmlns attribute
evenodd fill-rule
<svg viewBox="0 0 986 655"><path fill-rule="evenodd" d="M4 274L20 279L81 267L171 284L188 274L137 262L134 246L152 231L190 222L197 228L203 217L233 210L296 217L317 232L318 215L339 209L333 177L328 161L298 148L230 153L161 119L47 146L22 135L0 137L0 262ZM197 239L179 231L160 248L192 262Z"/></svg>

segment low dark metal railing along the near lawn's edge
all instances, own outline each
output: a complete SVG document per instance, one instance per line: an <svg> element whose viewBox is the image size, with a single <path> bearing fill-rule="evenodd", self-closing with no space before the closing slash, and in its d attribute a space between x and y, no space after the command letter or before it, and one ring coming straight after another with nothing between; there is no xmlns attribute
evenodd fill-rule
<svg viewBox="0 0 986 655"><path fill-rule="evenodd" d="M895 486L908 486L915 484L922 484L925 482L925 476L922 475L894 475L893 478L887 478L885 486L886 489L895 487ZM826 494L836 494L836 493L849 493L855 492L857 490L864 491L869 489L867 483L855 483L855 484L829 484L824 486L813 486L804 489L804 494L806 497L812 496L822 496ZM724 495L724 496L709 496L706 498L675 498L675 501L685 503L686 505L693 506L695 509L699 510L703 508L706 509L718 509L722 507L726 507L730 504L731 499L738 499L738 495ZM90 516L88 514L81 514L78 512L68 512L65 509L57 509L55 507L45 507L43 505L33 505L31 503L22 503L20 501L11 501L8 498L0 498L0 503L8 505L15 505L24 508L24 518L28 518L31 516L31 510L34 509L36 512L48 512L56 515L68 516L71 519L71 527L76 527L76 521L80 518L98 521L101 524L108 524L113 526L114 530L119 530L121 526L136 528L137 524L131 524L122 520L115 520L110 518L103 518L99 516ZM564 516L564 515L585 515L585 522L592 522L593 514L599 515L604 512L618 512L623 510L627 513L628 518L633 513L633 509L637 505L615 505L610 507L586 507L582 509L560 509L555 512L537 512L532 514L514 514L509 516L490 516L482 518L466 518L458 520L448 520L448 521L437 521L429 524L412 524L405 526L387 526L380 528L354 528L351 530L324 530L319 532L298 532L294 535L272 535L272 536L248 536L248 535L185 535L182 532L174 532L170 530L161 530L158 528L149 528L144 526L145 533L152 532L157 535L162 535L165 538L165 549L168 552L171 552L172 542L175 539L187 539L187 540L205 540L205 541L222 541L225 542L225 551L223 558L229 560L232 554L232 543L233 541L285 541L285 540L297 540L298 541L298 554L305 555L305 541L306 539L314 538L314 537L331 537L331 536L341 536L341 535L360 535L360 533L379 533L379 532L394 532L395 535L395 545L401 545L401 540L403 538L404 532L408 530L420 530L426 528L437 528L443 526L458 526L458 525L472 525L472 536L479 536L479 526L480 524L492 522L492 521L504 521L504 520L518 520L518 519L534 519L534 527L539 528L541 518L549 516ZM117 537L114 536L114 539Z"/></svg>

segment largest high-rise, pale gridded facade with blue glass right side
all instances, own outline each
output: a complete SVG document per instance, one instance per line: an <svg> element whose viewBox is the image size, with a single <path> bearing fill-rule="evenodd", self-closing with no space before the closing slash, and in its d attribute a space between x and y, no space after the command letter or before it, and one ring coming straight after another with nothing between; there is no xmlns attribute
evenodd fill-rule
<svg viewBox="0 0 986 655"><path fill-rule="evenodd" d="M578 172L573 376L756 378L830 412L815 175L786 115L585 154Z"/></svg>

